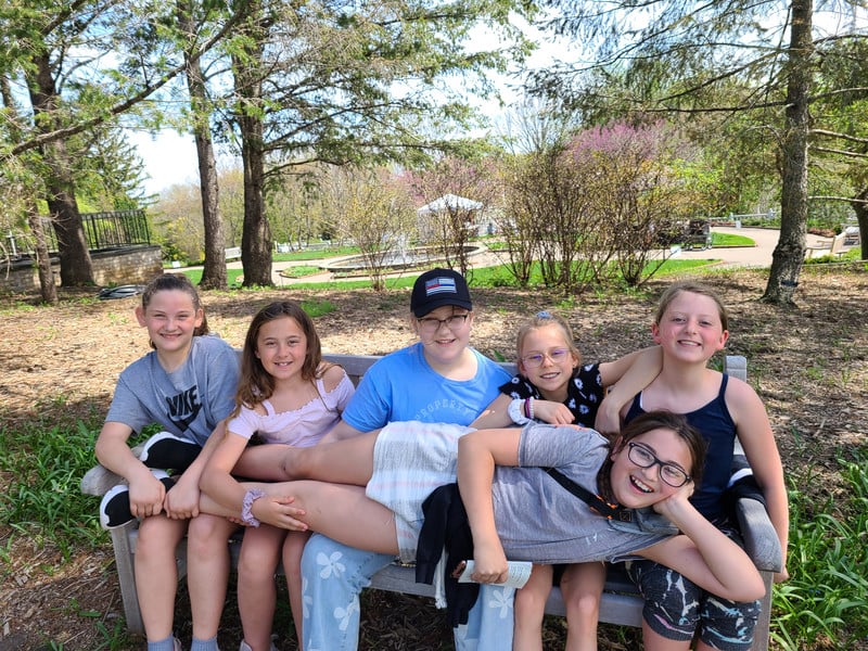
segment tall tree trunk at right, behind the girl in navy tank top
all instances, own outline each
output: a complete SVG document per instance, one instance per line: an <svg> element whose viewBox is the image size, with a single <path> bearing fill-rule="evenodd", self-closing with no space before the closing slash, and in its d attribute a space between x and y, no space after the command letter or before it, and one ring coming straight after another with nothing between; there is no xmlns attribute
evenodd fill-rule
<svg viewBox="0 0 868 651"><path fill-rule="evenodd" d="M794 0L788 50L787 111L781 146L780 238L771 255L771 271L763 301L792 304L805 260L807 228L808 94L814 62L812 0Z"/></svg>

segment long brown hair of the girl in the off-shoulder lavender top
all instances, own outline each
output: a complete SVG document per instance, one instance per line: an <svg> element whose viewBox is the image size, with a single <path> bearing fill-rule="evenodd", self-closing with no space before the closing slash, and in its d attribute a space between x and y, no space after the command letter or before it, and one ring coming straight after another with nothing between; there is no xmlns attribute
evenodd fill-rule
<svg viewBox="0 0 868 651"><path fill-rule="evenodd" d="M244 337L234 413L238 413L242 405L253 407L273 395L275 379L265 370L261 360L256 357L256 342L263 326L275 319L283 318L294 319L307 340L305 361L302 365L302 380L310 382L316 387L314 381L321 378L332 366L322 363L322 346L314 327L314 320L302 309L302 306L294 301L270 303L256 312Z"/></svg>

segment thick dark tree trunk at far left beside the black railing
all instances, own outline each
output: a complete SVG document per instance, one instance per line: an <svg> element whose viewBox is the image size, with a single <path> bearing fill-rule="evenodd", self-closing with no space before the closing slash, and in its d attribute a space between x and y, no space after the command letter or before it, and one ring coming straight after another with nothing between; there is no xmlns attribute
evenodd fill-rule
<svg viewBox="0 0 868 651"><path fill-rule="evenodd" d="M42 132L53 131L58 126L59 98L48 54L34 56L36 76L30 79L30 101L36 124ZM46 191L48 209L58 233L61 257L61 284L63 286L93 284L93 265L88 252L81 215L75 200L75 183L72 161L63 139L53 140L42 148L48 167Z"/></svg>

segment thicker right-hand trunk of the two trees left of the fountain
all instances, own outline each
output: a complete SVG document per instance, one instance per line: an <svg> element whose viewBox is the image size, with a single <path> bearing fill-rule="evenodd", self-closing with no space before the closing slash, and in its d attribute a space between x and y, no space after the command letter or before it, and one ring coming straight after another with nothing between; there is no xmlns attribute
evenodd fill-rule
<svg viewBox="0 0 868 651"><path fill-rule="evenodd" d="M240 30L248 37L243 53L233 55L237 118L241 132L241 159L244 167L244 229L241 234L241 265L244 286L270 286L271 229L265 216L265 149L263 125L263 48L259 2L248 5L248 17Z"/></svg>

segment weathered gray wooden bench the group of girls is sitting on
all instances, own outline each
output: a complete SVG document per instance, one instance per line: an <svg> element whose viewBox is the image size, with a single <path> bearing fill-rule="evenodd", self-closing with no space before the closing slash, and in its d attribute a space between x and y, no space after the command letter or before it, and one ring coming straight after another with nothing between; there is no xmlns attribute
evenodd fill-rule
<svg viewBox="0 0 868 651"><path fill-rule="evenodd" d="M340 363L356 383L365 374L365 371L379 359L375 356L356 355L326 355L324 357L329 361ZM515 371L515 367L512 363L502 363L501 366L510 373ZM727 356L724 362L724 371L741 380L746 380L746 359L742 356ZM81 480L81 492L100 497L122 482L123 480L118 475L101 465L97 465L89 470ZM762 602L760 622L756 626L753 644L754 650L765 651L768 648L771 579L774 573L779 572L781 569L780 544L761 502L753 499L741 499L737 505L737 513L745 550L761 571L766 584L766 596ZM135 520L111 532L127 628L130 631L141 634L143 633L143 626L141 613L139 612L139 599L136 593L136 577L133 573L137 534L138 522ZM237 567L238 554L241 548L240 537L230 539L229 545L232 566ZM186 541L182 540L179 544L176 556L179 576L183 576L187 570ZM397 563L378 572L373 576L371 587L423 597L433 597L434 595L432 586L416 583L413 567ZM552 615L565 614L559 589L552 589L546 605L546 612ZM641 626L642 599L618 565L610 567L605 591L600 603L600 622L622 626Z"/></svg>

